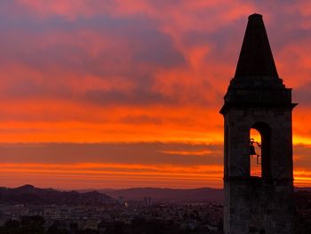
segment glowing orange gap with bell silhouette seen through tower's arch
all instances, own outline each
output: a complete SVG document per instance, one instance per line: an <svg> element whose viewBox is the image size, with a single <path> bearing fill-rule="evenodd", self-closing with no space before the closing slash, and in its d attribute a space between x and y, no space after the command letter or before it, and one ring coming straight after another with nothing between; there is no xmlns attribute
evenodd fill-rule
<svg viewBox="0 0 311 234"><path fill-rule="evenodd" d="M253 128L251 128L250 135L250 174L261 177L261 135Z"/></svg>

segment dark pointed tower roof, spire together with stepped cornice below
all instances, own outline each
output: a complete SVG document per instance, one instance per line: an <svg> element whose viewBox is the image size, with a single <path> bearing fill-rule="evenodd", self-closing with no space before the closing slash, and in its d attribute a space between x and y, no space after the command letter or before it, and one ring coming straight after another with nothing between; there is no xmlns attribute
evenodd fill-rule
<svg viewBox="0 0 311 234"><path fill-rule="evenodd" d="M246 27L235 77L231 79L220 109L292 109L291 89L277 75L262 15L252 14Z"/></svg>

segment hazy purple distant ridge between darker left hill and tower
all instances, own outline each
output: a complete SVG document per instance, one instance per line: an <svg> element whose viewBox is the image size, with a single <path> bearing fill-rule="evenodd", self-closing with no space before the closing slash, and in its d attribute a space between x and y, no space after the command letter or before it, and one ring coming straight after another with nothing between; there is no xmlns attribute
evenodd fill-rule
<svg viewBox="0 0 311 234"><path fill-rule="evenodd" d="M87 191L87 190L83 190ZM163 202L222 202L222 189L159 189L159 188L133 188L124 190L98 190L112 198L123 197L124 200L142 200L149 197L153 201Z"/></svg>

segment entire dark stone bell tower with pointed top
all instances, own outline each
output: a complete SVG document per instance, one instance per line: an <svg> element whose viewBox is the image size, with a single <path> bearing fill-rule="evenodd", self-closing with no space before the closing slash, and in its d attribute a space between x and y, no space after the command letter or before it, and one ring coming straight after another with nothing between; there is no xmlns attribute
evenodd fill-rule
<svg viewBox="0 0 311 234"><path fill-rule="evenodd" d="M291 89L279 78L262 15L249 16L220 113L225 120L224 233L293 234ZM250 130L261 136L251 175Z"/></svg>

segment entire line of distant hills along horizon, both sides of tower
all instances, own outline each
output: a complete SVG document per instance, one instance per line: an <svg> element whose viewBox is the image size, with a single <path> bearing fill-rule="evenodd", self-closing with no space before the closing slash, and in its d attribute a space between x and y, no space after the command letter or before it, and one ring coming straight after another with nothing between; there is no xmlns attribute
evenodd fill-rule
<svg viewBox="0 0 311 234"><path fill-rule="evenodd" d="M311 188L295 188L296 199L311 198ZM39 189L32 185L18 188L0 188L0 204L28 205L101 205L116 199L141 201L152 198L154 202L218 202L224 199L222 189L161 189L132 188L123 190L72 190Z"/></svg>

